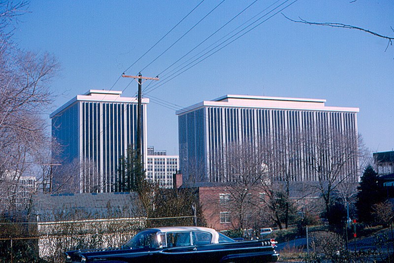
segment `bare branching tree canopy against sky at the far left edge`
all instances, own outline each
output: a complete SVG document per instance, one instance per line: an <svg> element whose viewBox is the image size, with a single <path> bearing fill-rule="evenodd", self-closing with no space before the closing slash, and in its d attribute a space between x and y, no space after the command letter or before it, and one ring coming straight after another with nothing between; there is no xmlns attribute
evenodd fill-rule
<svg viewBox="0 0 394 263"><path fill-rule="evenodd" d="M59 67L51 55L22 51L12 42L13 22L26 7L24 1L0 2L0 198L10 197L19 177L42 163L48 135L41 114L52 101L48 84ZM2 183L6 173L13 177L8 186Z"/></svg>

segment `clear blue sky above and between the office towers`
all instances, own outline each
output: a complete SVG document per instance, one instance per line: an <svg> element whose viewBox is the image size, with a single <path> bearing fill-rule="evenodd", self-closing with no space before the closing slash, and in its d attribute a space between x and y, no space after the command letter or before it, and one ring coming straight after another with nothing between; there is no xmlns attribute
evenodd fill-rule
<svg viewBox="0 0 394 263"><path fill-rule="evenodd" d="M52 84L58 95L56 109L89 89L110 89L126 68L200 1L32 0L14 39L25 50L58 58L62 70ZM137 74L219 2L202 2L126 73ZM156 76L252 2L225 0L142 74ZM274 2L257 1L196 51ZM298 0L283 13L394 35L392 0ZM358 127L367 147L388 151L394 148L394 46L385 52L387 44L360 31L296 24L278 14L147 95L180 107L226 94L327 99L328 106L359 107ZM137 85L127 87L129 82L122 78L113 90L134 96ZM175 109L153 99L148 105L148 145L178 153Z"/></svg>

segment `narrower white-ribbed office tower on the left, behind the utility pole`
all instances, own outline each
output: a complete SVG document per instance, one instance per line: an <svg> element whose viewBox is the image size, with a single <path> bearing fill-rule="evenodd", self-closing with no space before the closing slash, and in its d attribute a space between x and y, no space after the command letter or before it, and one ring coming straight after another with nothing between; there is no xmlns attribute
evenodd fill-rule
<svg viewBox="0 0 394 263"><path fill-rule="evenodd" d="M119 160L136 145L137 99L121 97L121 91L90 90L54 111L52 138L63 149L53 153L58 170L78 166L80 193L117 192ZM142 99L141 145L146 164L146 106ZM71 168L70 168L71 170ZM58 175L60 176L60 175ZM66 177L63 173L61 176ZM65 178L57 178L64 180Z"/></svg>

